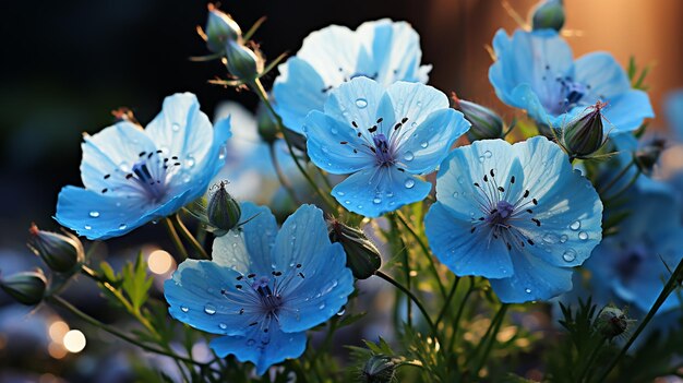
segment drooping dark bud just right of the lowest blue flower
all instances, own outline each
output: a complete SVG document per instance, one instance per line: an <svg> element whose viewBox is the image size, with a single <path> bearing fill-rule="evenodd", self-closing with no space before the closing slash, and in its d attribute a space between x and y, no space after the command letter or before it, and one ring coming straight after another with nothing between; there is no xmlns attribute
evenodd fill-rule
<svg viewBox="0 0 683 383"><path fill-rule="evenodd" d="M346 265L356 278L367 279L380 270L382 266L380 250L361 229L346 226L335 219L328 223L328 230L329 240L344 247Z"/></svg>

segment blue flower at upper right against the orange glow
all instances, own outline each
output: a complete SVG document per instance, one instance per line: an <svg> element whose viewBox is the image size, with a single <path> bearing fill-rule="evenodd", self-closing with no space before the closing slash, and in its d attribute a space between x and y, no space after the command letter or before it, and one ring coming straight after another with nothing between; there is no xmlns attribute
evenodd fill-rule
<svg viewBox="0 0 683 383"><path fill-rule="evenodd" d="M511 38L501 29L493 49L489 80L499 98L539 123L562 128L598 100L608 103L606 131L633 131L655 116L647 94L631 88L611 55L592 52L574 61L555 31L517 29Z"/></svg>

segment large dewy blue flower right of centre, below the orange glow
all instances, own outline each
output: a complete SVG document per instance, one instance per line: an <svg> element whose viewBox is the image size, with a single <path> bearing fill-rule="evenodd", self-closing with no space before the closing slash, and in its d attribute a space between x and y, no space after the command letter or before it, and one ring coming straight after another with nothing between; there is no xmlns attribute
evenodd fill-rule
<svg viewBox="0 0 683 383"><path fill-rule="evenodd" d="M572 288L602 238L602 203L562 149L542 136L456 148L436 176L424 217L434 254L456 275L480 275L504 302Z"/></svg>

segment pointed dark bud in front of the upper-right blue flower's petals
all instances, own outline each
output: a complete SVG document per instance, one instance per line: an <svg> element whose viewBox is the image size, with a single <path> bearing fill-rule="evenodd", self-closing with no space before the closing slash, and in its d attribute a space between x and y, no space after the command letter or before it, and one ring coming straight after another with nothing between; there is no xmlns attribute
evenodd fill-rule
<svg viewBox="0 0 683 383"><path fill-rule="evenodd" d="M563 130L562 144L572 157L586 157L597 152L604 143L602 108L607 104L597 101L586 108L583 116L575 118Z"/></svg>

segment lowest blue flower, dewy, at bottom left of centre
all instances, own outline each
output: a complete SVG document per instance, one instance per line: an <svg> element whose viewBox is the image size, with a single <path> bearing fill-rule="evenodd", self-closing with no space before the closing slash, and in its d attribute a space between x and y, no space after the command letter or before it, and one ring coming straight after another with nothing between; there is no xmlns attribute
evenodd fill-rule
<svg viewBox="0 0 683 383"><path fill-rule="evenodd" d="M173 318L225 335L211 342L216 355L263 374L303 352L305 331L346 304L354 277L315 206L301 206L279 232L267 207L243 203L242 217L253 218L215 239L213 261L184 261L164 288Z"/></svg>

